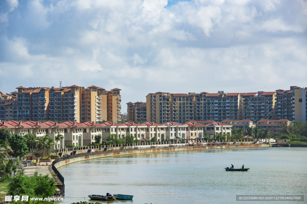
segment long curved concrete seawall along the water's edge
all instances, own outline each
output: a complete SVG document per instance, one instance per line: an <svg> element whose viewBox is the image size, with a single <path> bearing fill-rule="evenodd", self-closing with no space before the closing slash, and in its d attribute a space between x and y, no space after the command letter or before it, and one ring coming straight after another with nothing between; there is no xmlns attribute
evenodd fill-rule
<svg viewBox="0 0 307 204"><path fill-rule="evenodd" d="M243 147L270 147L269 144L250 144L250 145L221 145L221 146L195 146L195 147L169 147L169 148L155 148L155 149L143 149L143 150L130 150L130 151L118 151L102 154L85 155L76 158L70 158L63 161L59 161L54 166L59 168L61 166L71 164L78 161L84 161L89 159L97 159L104 157L113 157L128 154L143 154L143 153L155 153L155 152L167 152L167 151L182 151L182 150L202 150L202 149L223 149L223 148L243 148Z"/></svg>

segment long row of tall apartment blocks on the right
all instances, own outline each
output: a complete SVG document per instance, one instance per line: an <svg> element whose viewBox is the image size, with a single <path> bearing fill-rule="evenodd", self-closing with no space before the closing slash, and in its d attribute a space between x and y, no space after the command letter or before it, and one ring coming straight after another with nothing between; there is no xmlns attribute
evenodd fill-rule
<svg viewBox="0 0 307 204"><path fill-rule="evenodd" d="M171 94L150 93L146 96L146 119L156 123L189 120L259 120L287 119L306 121L307 88L296 86L290 90L253 93ZM128 104L132 106L134 104ZM128 108L129 110L129 108ZM128 111L129 113L134 113Z"/></svg>

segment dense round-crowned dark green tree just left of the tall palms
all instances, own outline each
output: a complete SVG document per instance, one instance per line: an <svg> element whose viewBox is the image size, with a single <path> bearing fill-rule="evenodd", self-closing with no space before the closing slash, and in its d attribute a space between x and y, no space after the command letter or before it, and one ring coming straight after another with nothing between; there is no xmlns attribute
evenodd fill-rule
<svg viewBox="0 0 307 204"><path fill-rule="evenodd" d="M15 156L19 155L20 157L23 157L25 156L25 154L27 154L28 152L27 139L24 136L14 134L9 138L8 141L10 143L12 150L14 150Z"/></svg>

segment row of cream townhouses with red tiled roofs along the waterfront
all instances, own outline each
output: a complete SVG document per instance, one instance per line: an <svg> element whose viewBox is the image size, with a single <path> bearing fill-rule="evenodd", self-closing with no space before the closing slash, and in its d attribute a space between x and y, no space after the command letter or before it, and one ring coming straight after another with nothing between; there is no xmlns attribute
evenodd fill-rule
<svg viewBox="0 0 307 204"><path fill-rule="evenodd" d="M200 124L196 122L188 122L178 124L175 122L167 122L157 124L154 122L145 122L137 124L134 122L125 122L117 124L114 122L104 122L97 124L93 122L78 123L76 121L66 121L57 123L52 121L1 121L0 128L8 130L11 134L36 134L37 136L45 136L48 134L54 138L57 134L64 136L64 141L58 141L58 148L67 147L69 145L84 146L95 142L95 136L100 135L101 141L106 141L107 136L116 134L119 138L126 135L133 135L135 139L195 139L196 137L204 137L204 135L214 135L215 133L226 134L231 136L231 124L223 124L220 122L212 122L208 124Z"/></svg>

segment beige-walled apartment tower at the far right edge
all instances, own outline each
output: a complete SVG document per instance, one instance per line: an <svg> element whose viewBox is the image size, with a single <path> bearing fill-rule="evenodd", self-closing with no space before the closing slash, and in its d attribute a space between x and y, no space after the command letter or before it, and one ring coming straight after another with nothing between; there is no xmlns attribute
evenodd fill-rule
<svg viewBox="0 0 307 204"><path fill-rule="evenodd" d="M305 123L307 117L307 87L294 87L293 95L293 121Z"/></svg>

